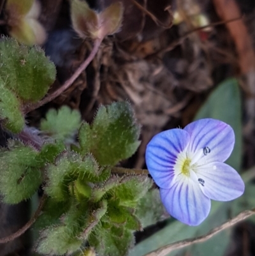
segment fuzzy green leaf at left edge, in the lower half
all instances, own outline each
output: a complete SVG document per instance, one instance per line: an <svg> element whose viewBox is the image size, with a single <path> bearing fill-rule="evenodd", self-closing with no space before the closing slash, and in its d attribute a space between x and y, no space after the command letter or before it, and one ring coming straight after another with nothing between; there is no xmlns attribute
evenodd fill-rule
<svg viewBox="0 0 255 256"><path fill-rule="evenodd" d="M38 152L21 142L10 140L9 149L0 154L0 192L7 204L29 199L43 181Z"/></svg>

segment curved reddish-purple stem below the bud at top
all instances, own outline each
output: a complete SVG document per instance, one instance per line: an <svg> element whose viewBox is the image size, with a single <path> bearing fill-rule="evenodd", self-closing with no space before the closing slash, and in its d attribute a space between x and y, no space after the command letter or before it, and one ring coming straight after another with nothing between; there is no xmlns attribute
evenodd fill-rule
<svg viewBox="0 0 255 256"><path fill-rule="evenodd" d="M38 109L38 107L41 107L42 105L45 105L48 102L51 102L52 100L57 98L57 96L59 96L61 93L66 91L66 89L68 89L73 84L73 82L75 82L77 77L85 70L85 68L87 68L87 66L89 66L89 63L91 63L91 61L94 59L101 45L101 41L102 40L100 39L94 42L94 47L89 56L87 57L87 59L85 59L84 63L82 63L79 66L76 72L73 73L73 75L68 80L66 80L66 82L64 82L64 84L61 87L59 87L59 89L57 89L57 91L54 91L54 93L46 96L45 98L43 98L43 100L41 100L38 103L35 103L33 105L27 105L24 109L24 113L27 114L28 112L34 109Z"/></svg>

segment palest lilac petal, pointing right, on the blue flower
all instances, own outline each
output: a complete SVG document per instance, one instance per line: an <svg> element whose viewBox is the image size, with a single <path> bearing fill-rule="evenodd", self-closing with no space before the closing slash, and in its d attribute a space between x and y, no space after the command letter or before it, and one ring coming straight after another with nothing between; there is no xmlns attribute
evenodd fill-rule
<svg viewBox="0 0 255 256"><path fill-rule="evenodd" d="M203 185L200 183L201 190L210 199L230 201L244 193L244 181L226 163L208 163L199 167L196 175L203 180Z"/></svg>

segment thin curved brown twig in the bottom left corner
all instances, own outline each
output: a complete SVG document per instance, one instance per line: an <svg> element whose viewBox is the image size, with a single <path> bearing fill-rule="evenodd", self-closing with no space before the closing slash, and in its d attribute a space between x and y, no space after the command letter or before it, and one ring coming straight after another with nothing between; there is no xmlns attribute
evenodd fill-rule
<svg viewBox="0 0 255 256"><path fill-rule="evenodd" d="M40 200L40 204L39 204L36 212L34 213L33 217L29 220L29 222L27 222L21 229L19 229L14 234L11 234L10 236L6 236L6 237L3 237L3 238L0 238L0 244L8 243L10 241L13 241L15 238L24 234L25 231L27 231L27 229L29 229L33 225L33 223L36 221L36 219L40 215L41 209L43 209L46 198L47 198L47 195L43 194L43 197L41 197L41 200Z"/></svg>

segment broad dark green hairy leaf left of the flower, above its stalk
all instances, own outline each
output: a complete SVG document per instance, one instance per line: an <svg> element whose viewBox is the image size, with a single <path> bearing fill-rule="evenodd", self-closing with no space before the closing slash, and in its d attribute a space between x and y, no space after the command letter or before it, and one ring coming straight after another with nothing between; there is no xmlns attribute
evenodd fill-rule
<svg viewBox="0 0 255 256"><path fill-rule="evenodd" d="M129 103L102 106L92 126L84 123L80 128L81 153L92 153L99 165L115 165L135 153L140 145L139 133Z"/></svg>

